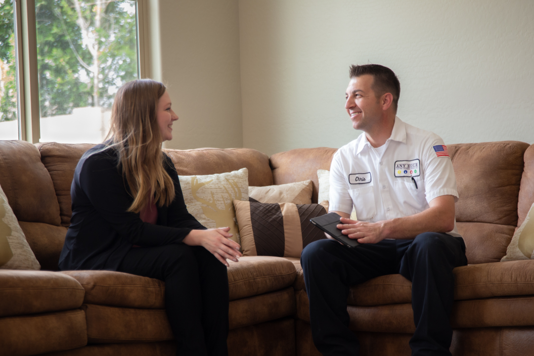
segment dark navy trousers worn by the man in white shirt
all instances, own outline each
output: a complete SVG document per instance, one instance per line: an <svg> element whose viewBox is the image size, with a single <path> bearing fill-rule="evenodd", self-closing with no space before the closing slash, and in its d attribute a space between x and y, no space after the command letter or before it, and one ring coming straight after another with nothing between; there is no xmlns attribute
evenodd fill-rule
<svg viewBox="0 0 534 356"><path fill-rule="evenodd" d="M302 251L301 264L313 342L325 356L359 354L358 339L349 330L349 286L395 273L412 281L412 355L451 355L452 270L467 265L462 238L423 233L413 240L382 240L356 248L319 240Z"/></svg>

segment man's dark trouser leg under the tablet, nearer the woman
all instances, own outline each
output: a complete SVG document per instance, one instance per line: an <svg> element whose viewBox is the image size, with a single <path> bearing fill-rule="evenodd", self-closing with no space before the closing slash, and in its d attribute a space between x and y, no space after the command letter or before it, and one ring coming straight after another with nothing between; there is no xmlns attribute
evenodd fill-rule
<svg viewBox="0 0 534 356"><path fill-rule="evenodd" d="M349 330L349 286L379 275L396 273L395 241L348 248L334 240L310 243L301 265L310 301L313 342L327 355L358 355L359 342Z"/></svg>

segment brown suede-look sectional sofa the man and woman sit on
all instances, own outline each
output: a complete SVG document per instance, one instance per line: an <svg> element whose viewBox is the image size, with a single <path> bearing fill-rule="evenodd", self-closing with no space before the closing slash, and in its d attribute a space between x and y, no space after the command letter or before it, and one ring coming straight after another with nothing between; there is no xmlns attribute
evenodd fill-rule
<svg viewBox="0 0 534 356"><path fill-rule="evenodd" d="M172 355L164 283L109 271L57 270L70 220L70 181L91 145L0 141L0 186L42 270L0 270L1 355ZM534 145L450 145L468 266L454 270L455 356L534 354L534 261L499 262L534 202ZM270 158L253 149L166 150L179 175L249 171L249 185L313 180L332 148ZM230 355L318 355L296 258L230 262ZM350 289L362 355L410 355L411 283L387 275Z"/></svg>

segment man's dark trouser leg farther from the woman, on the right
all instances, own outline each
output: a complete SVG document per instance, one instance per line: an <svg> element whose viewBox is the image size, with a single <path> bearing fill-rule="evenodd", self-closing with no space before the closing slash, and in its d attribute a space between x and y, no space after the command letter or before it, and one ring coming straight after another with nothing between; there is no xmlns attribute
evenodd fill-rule
<svg viewBox="0 0 534 356"><path fill-rule="evenodd" d="M416 236L407 247L399 273L412 281L415 322L415 333L410 340L412 355L451 355L452 270L465 265L462 238L428 232Z"/></svg>

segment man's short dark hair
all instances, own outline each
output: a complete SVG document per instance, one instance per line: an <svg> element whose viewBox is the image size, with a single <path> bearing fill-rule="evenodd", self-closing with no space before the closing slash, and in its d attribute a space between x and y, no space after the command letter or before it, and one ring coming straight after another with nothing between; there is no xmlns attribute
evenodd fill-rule
<svg viewBox="0 0 534 356"><path fill-rule="evenodd" d="M356 78L362 75L372 75L373 85L371 89L375 92L377 97L384 93L391 93L393 96L393 108L397 112L397 104L400 96L400 83L393 71L388 67L379 64L364 64L361 66L352 65L349 68L350 78Z"/></svg>

